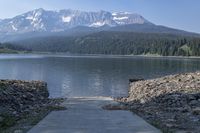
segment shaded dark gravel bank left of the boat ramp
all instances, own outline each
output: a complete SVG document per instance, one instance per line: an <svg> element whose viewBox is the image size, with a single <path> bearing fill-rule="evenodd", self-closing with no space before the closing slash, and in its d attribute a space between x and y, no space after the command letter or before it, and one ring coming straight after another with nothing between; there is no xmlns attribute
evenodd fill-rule
<svg viewBox="0 0 200 133"><path fill-rule="evenodd" d="M63 109L63 99L49 99L43 81L0 80L0 132L24 133L52 110Z"/></svg>

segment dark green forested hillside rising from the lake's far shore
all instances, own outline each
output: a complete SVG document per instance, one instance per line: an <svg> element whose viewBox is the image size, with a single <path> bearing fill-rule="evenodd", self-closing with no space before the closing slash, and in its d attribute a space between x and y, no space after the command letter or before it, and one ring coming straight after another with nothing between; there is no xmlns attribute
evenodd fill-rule
<svg viewBox="0 0 200 133"><path fill-rule="evenodd" d="M30 51L79 54L200 56L200 38L164 33L104 31L84 37L34 38L15 42L8 46Z"/></svg>

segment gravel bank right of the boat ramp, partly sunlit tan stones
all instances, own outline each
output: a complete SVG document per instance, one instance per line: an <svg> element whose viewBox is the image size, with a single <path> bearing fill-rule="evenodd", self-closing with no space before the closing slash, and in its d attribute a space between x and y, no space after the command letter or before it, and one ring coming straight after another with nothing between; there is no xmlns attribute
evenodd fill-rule
<svg viewBox="0 0 200 133"><path fill-rule="evenodd" d="M200 133L200 72L133 82L117 101L120 108L110 108L131 110L163 132Z"/></svg>

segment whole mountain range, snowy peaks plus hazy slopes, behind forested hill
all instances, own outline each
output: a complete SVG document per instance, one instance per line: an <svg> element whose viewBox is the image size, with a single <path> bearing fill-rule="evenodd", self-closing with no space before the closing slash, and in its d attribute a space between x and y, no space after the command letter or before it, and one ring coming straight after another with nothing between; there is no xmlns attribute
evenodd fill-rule
<svg viewBox="0 0 200 133"><path fill-rule="evenodd" d="M0 19L0 41L23 40L49 35L80 35L99 31L126 31L198 35L156 25L137 13L48 11L42 8L9 19Z"/></svg>

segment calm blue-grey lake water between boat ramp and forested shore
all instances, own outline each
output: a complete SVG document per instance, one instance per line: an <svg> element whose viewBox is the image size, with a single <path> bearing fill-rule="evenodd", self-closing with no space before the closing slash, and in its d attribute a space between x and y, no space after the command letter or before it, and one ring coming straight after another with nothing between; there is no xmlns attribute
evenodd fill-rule
<svg viewBox="0 0 200 133"><path fill-rule="evenodd" d="M0 79L44 80L50 97L126 96L128 79L200 70L200 59L0 55Z"/></svg>

